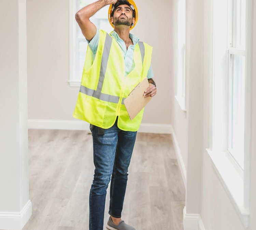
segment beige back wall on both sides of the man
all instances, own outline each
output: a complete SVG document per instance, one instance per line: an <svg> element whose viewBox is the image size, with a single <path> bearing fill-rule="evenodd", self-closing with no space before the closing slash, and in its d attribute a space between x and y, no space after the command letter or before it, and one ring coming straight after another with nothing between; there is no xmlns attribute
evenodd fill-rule
<svg viewBox="0 0 256 230"><path fill-rule="evenodd" d="M145 108L143 123L171 122L171 1L137 1L139 20L131 31L153 46L152 68L157 95ZM160 20L156 20L160 18ZM110 31L109 31L110 32ZM28 118L77 120L72 117L78 87L69 79L69 1L27 0Z"/></svg>

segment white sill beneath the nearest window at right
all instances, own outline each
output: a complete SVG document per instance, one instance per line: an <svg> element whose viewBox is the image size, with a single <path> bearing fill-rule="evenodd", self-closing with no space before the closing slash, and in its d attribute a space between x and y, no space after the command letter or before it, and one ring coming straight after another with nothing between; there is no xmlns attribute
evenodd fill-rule
<svg viewBox="0 0 256 230"><path fill-rule="evenodd" d="M247 228L249 212L244 207L243 171L233 163L230 153L206 150L211 158L212 167L226 190L243 226Z"/></svg>

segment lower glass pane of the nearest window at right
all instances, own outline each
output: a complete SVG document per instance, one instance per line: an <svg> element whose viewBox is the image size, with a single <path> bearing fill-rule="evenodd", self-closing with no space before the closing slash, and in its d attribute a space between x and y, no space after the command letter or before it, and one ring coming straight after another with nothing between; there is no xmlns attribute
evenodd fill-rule
<svg viewBox="0 0 256 230"><path fill-rule="evenodd" d="M245 57L231 55L229 151L243 169Z"/></svg>

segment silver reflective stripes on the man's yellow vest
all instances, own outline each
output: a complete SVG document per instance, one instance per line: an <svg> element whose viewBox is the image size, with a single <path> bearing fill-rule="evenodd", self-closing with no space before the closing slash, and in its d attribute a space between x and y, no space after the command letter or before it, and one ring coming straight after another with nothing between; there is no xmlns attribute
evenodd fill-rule
<svg viewBox="0 0 256 230"><path fill-rule="evenodd" d="M97 90L89 89L85 86L80 87L80 92L84 93L88 96L95 97L97 99L100 99L102 101L106 102L112 102L112 103L117 103L119 102L119 97L118 96L113 96L105 93L101 93L104 78L105 78L105 73L106 73L106 68L108 65L108 60L109 60L109 53L110 53L110 48L112 44L112 37L107 33L106 34L106 39L104 43L104 48L103 48L103 53L102 53L102 58L101 58L101 65L100 65L100 77L98 81L98 86ZM145 47L143 42L138 42L140 46L140 52L141 52L141 57L142 57L142 64L145 56ZM124 105L124 99L122 99L122 104Z"/></svg>

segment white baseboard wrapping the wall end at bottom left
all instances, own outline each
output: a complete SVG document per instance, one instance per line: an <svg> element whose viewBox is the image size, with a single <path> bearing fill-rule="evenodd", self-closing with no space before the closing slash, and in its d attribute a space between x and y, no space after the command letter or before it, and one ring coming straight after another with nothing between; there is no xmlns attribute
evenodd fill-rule
<svg viewBox="0 0 256 230"><path fill-rule="evenodd" d="M30 200L20 212L0 212L0 229L22 230L32 215L32 203Z"/></svg>

